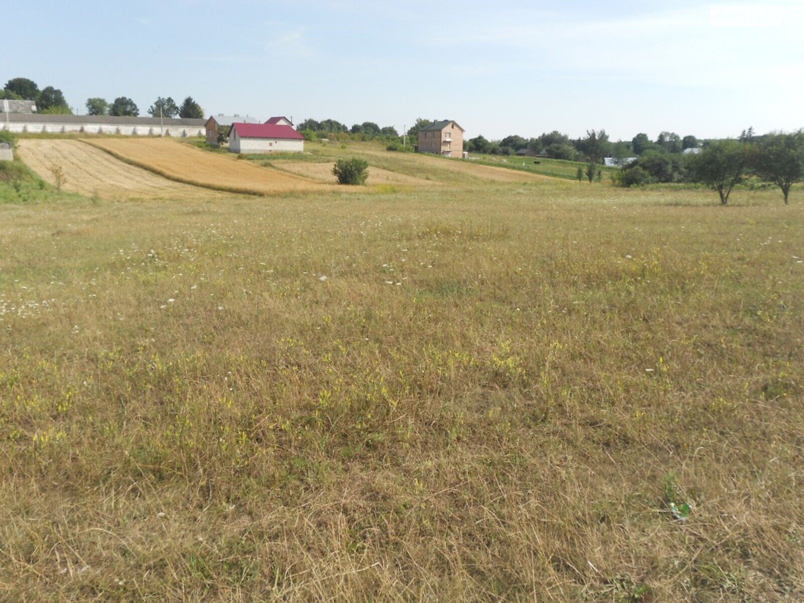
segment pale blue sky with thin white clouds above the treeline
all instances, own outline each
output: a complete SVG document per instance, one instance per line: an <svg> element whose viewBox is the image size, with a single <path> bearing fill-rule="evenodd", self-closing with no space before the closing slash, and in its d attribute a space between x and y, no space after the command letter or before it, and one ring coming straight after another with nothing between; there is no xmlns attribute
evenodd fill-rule
<svg viewBox="0 0 804 603"><path fill-rule="evenodd" d="M467 137L804 127L804 2L3 2L0 85ZM8 27L8 24L14 24Z"/></svg>

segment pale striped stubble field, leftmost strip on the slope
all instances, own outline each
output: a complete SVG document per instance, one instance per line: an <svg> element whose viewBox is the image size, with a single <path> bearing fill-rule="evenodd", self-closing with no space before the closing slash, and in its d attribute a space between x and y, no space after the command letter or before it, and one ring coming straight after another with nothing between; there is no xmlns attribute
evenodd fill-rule
<svg viewBox="0 0 804 603"><path fill-rule="evenodd" d="M64 190L103 199L196 199L209 197L199 187L176 183L76 140L21 140L19 156L31 170L55 184L52 166L64 170Z"/></svg>

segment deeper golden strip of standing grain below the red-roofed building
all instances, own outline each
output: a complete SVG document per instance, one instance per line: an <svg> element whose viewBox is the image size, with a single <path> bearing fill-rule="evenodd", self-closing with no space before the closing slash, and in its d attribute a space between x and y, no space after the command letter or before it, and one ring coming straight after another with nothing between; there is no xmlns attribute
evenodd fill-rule
<svg viewBox="0 0 804 603"><path fill-rule="evenodd" d="M207 153L170 138L109 138L87 144L166 178L218 191L271 195L326 191L326 185L224 154ZM333 188L334 190L334 188Z"/></svg>

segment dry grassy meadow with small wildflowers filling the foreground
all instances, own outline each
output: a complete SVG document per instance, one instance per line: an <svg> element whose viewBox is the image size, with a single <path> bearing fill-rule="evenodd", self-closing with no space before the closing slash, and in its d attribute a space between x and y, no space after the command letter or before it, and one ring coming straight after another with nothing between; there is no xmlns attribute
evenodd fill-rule
<svg viewBox="0 0 804 603"><path fill-rule="evenodd" d="M802 600L804 211L732 203L0 207L0 598Z"/></svg>

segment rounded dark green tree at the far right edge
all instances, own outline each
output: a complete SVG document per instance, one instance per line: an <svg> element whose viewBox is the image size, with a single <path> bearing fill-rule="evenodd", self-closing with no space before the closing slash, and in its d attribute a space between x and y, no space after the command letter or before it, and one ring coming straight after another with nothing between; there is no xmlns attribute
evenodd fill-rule
<svg viewBox="0 0 804 603"><path fill-rule="evenodd" d="M790 187L804 181L804 129L765 134L753 150L751 163L760 178L781 188L789 205Z"/></svg>

